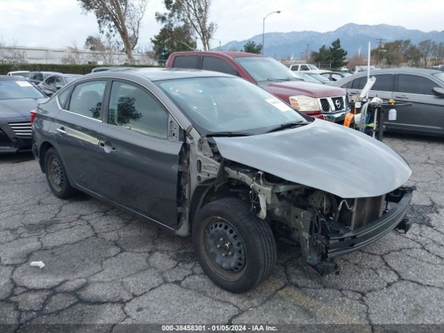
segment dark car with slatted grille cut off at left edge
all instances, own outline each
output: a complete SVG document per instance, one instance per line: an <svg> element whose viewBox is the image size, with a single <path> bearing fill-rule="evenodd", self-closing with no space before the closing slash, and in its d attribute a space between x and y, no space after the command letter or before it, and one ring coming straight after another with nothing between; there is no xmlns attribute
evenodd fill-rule
<svg viewBox="0 0 444 333"><path fill-rule="evenodd" d="M0 76L0 153L31 150L30 112L46 96L21 76Z"/></svg>

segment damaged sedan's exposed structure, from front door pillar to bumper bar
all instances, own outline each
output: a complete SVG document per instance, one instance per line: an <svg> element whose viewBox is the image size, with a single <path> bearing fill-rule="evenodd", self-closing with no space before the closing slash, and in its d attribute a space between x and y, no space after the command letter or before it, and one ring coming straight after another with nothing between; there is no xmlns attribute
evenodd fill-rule
<svg viewBox="0 0 444 333"><path fill-rule="evenodd" d="M201 206L216 198L236 196L248 202L259 219L268 221L278 236L298 244L307 264L324 275L337 271L332 262L337 255L357 250L394 228L409 230L405 215L413 187L402 186L368 198L341 198L227 160L211 137L187 134L178 234L189 232L187 216L192 219L196 209L191 201L200 200ZM196 199L194 193L201 188L206 188L205 195ZM397 204L402 199L407 204L400 210ZM390 219L386 221L385 216Z"/></svg>

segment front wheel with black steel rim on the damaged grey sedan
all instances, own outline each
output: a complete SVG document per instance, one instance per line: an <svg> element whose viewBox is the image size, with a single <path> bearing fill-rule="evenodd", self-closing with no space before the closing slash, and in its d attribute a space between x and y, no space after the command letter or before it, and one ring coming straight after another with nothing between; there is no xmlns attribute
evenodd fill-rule
<svg viewBox="0 0 444 333"><path fill-rule="evenodd" d="M222 198L200 209L193 223L193 246L203 271L232 293L254 289L276 262L276 244L266 221L248 204Z"/></svg>

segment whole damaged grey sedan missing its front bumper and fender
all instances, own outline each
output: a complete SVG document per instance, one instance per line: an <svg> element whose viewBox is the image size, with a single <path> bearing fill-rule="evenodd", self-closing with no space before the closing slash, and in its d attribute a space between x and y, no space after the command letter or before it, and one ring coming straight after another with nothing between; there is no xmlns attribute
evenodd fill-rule
<svg viewBox="0 0 444 333"><path fill-rule="evenodd" d="M232 292L271 273L272 229L320 274L409 229L411 170L397 153L228 74L89 74L39 105L33 139L53 194L80 190L191 234L203 271Z"/></svg>

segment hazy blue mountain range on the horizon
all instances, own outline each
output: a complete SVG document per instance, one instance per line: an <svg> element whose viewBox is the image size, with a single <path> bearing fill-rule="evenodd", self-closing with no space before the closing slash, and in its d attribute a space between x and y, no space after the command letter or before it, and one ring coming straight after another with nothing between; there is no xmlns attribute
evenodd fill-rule
<svg viewBox="0 0 444 333"><path fill-rule="evenodd" d="M377 47L379 42L393 42L395 40L410 40L413 44L418 44L422 40L434 40L444 42L444 31L430 31L428 33L419 30L409 30L402 26L390 26L388 24L378 24L374 26L361 24L345 24L335 31L318 33L316 31L292 31L291 33L266 33L264 54L274 58L305 58L302 52L318 51L323 46L331 46L332 42L339 38L341 46L352 57L356 53L366 55L368 42L371 42L372 49ZM382 40L379 40L382 39ZM262 34L255 35L248 40L232 41L222 46L223 50L242 50L248 41L262 44Z"/></svg>

